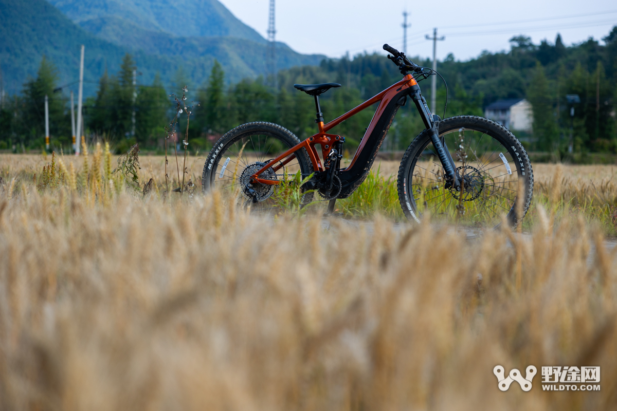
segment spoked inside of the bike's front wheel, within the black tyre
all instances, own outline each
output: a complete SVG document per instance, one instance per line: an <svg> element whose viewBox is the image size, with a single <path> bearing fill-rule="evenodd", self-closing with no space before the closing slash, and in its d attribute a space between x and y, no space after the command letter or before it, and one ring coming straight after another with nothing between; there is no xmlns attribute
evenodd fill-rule
<svg viewBox="0 0 617 411"><path fill-rule="evenodd" d="M505 168L501 163L504 155L510 165L516 161L511 158L507 144L501 140L508 141L507 136L498 140L492 132L476 130L473 124L455 127L443 132L440 137L449 149L454 149L450 153L455 159L455 169L463 179L462 187L457 190L445 188L445 177L439 174L442 173L442 165L436 161L439 157L431 147L431 140L424 137L425 143L418 147L408 174L407 198L415 215L420 218L428 213L446 224L482 228L498 226L502 210L510 213L516 204L516 196L521 195L511 185L518 182L516 177L519 173L503 173ZM502 155L496 157L500 152ZM431 170L435 166L440 170L438 173ZM492 176L492 173L497 175ZM507 176L515 179L508 180ZM446 195L449 193L451 195Z"/></svg>

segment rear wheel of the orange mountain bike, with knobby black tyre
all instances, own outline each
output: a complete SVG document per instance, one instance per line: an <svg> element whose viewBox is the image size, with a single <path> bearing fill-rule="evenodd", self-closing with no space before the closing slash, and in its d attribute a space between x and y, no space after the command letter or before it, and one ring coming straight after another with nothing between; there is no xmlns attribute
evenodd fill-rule
<svg viewBox="0 0 617 411"><path fill-rule="evenodd" d="M278 124L247 123L228 131L221 137L205 160L202 174L202 190L219 190L223 197L237 196L244 203L252 203L255 196L262 206L271 205L270 197L278 185L251 184L254 192L249 192L247 183L252 174L264 165L286 152L300 140ZM280 164L280 163L277 163ZM313 165L305 149L297 150L296 157L278 171L268 168L262 177L265 179L291 181L300 171L303 178L313 173ZM313 193L307 193L302 203L309 203Z"/></svg>

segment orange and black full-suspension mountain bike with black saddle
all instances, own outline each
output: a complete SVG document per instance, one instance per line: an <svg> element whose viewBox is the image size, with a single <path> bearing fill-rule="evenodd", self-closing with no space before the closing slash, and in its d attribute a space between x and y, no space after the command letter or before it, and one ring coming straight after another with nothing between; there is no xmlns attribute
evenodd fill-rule
<svg viewBox="0 0 617 411"><path fill-rule="evenodd" d="M523 145L505 127L478 116L441 119L431 113L418 81L436 72L420 67L384 44L387 58L403 78L371 99L325 123L319 97L341 84L294 84L315 100L318 132L300 141L278 124L242 124L213 146L204 165L202 190L222 190L254 204L267 202L275 187L302 176L304 204L317 192L333 213L338 198L349 197L365 180L397 110L412 100L425 129L405 151L397 180L405 216L470 228L515 226L531 203L533 173ZM345 137L328 131L378 104L360 144L341 168ZM309 179L308 177L311 176ZM296 179L297 181L297 179ZM270 200L271 201L271 200Z"/></svg>

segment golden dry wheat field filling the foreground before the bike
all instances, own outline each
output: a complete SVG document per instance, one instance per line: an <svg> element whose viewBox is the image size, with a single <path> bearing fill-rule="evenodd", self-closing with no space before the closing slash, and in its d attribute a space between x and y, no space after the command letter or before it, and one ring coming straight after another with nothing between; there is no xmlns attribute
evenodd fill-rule
<svg viewBox="0 0 617 411"><path fill-rule="evenodd" d="M616 256L576 209L614 204L610 166L536 166L531 235L466 240L268 218L163 195L160 157L138 189L101 147L84 160L0 156L2 410L617 409ZM535 365L531 391L496 365ZM600 367L600 391L543 391L545 365Z"/></svg>

